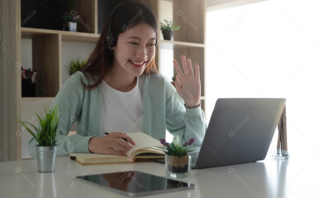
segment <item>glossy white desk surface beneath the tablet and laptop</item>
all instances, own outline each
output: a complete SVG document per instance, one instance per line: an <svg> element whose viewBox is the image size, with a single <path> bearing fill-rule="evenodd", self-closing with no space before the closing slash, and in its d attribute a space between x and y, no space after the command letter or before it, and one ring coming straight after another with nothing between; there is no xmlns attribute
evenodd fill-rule
<svg viewBox="0 0 320 198"><path fill-rule="evenodd" d="M319 153L318 153L319 154ZM161 197L320 197L320 155L267 158L253 163L192 170L180 178L197 184L195 190L152 194ZM56 158L53 173L37 171L36 160L0 163L0 197L125 197L76 181L82 174L121 172L123 168L165 177L164 164L140 160L133 164L80 165L69 158ZM75 184L75 185L74 185ZM151 197L151 196L144 196Z"/></svg>

